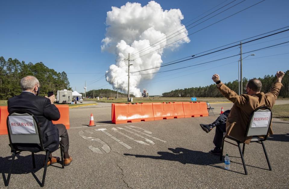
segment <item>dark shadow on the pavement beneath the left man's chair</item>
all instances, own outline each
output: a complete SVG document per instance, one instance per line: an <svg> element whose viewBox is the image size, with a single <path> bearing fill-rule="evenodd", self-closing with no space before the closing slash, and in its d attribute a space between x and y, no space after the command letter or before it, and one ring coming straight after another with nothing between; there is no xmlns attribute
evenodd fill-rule
<svg viewBox="0 0 289 189"><path fill-rule="evenodd" d="M21 154L21 153L20 153ZM15 160L13 163L12 171L11 171L11 177L13 177L13 174L29 174L31 173L35 180L38 182L39 185L41 185L41 182L36 177L35 173L42 169L43 162L45 160L44 154L34 154L35 157L35 169L33 169L33 163L32 163L32 155L27 156L21 156L20 154L16 154ZM12 163L12 155L7 157L0 157L0 172L3 177L4 184L7 183L7 176L8 172L11 168ZM52 165L54 166L54 165ZM5 176L6 174L6 176ZM12 179L10 177L10 180ZM42 178L41 178L42 179Z"/></svg>

